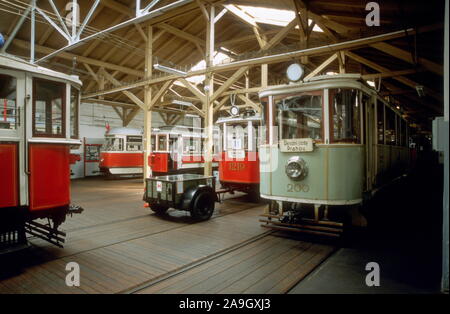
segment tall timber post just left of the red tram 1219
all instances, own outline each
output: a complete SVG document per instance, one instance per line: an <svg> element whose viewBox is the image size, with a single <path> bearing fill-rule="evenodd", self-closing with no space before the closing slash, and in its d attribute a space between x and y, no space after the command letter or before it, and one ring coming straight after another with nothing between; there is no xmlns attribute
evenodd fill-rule
<svg viewBox="0 0 450 314"><path fill-rule="evenodd" d="M214 60L214 5L209 8L209 20L206 29L206 68L213 66ZM212 175L212 159L213 159L213 117L214 117L214 76L211 72L206 74L205 78L205 94L206 101L203 104L203 111L205 112L205 168L204 174L206 176Z"/></svg>

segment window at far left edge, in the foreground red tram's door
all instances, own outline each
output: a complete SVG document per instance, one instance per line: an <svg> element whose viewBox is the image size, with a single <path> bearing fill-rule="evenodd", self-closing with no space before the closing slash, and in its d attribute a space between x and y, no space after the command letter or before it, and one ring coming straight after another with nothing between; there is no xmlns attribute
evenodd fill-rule
<svg viewBox="0 0 450 314"><path fill-rule="evenodd" d="M15 129L17 117L17 79L0 74L0 129Z"/></svg>

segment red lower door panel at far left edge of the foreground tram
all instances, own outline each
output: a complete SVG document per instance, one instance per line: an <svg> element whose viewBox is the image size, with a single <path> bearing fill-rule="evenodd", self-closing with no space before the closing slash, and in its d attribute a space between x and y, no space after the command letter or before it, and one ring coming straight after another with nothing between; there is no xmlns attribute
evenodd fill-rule
<svg viewBox="0 0 450 314"><path fill-rule="evenodd" d="M19 152L16 143L0 143L0 208L19 206Z"/></svg>

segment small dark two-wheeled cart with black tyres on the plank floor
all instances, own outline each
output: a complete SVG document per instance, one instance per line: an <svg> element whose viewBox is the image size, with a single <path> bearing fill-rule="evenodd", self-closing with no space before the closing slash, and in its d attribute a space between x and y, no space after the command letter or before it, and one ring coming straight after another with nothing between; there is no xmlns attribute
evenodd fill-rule
<svg viewBox="0 0 450 314"><path fill-rule="evenodd" d="M144 201L157 214L175 208L189 211L195 220L207 220L217 200L213 176L174 174L146 179Z"/></svg>

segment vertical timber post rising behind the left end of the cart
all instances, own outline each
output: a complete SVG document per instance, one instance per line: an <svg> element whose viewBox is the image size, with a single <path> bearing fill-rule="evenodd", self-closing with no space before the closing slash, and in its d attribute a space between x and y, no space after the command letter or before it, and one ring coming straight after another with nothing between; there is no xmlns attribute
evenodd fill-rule
<svg viewBox="0 0 450 314"><path fill-rule="evenodd" d="M147 27L147 42L145 43L145 77L152 77L153 68L153 28ZM152 111L150 110L150 104L152 102L152 88L150 85L144 87L144 186L145 179L152 175L152 170L148 164L148 157L152 153Z"/></svg>

